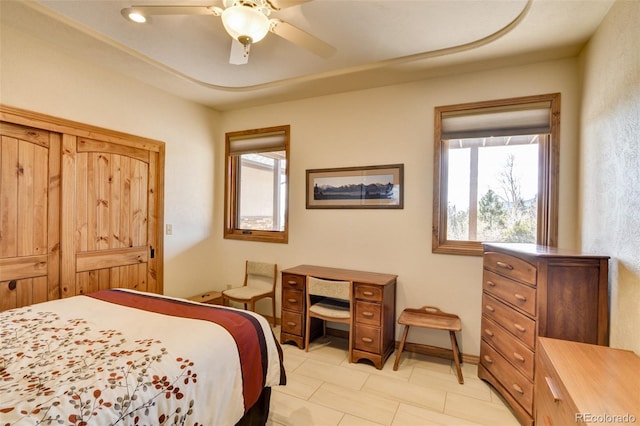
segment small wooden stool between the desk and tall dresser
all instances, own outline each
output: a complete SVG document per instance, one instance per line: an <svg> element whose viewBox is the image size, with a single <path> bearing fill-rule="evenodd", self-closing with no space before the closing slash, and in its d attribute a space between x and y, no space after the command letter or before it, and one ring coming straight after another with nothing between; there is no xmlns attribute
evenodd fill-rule
<svg viewBox="0 0 640 426"><path fill-rule="evenodd" d="M460 318L457 315L442 312L435 306L423 306L420 309L407 308L400 314L398 324L404 324L404 332L402 333L402 340L398 347L396 362L393 364L394 371L398 370L400 355L402 354L404 344L407 341L407 334L409 334L410 326L414 325L416 327L432 328L435 330L447 330L451 336L451 352L453 353L453 361L456 363L458 383L464 383L462 369L460 368L462 358L460 357L460 348L458 347L458 341L456 340L456 331L461 331L462 327L460 326Z"/></svg>

